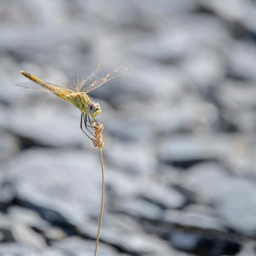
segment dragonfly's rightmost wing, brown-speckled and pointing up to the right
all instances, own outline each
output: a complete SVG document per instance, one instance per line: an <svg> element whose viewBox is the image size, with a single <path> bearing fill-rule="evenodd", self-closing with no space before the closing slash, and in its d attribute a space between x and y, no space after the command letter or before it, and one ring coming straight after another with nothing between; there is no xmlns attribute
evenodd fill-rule
<svg viewBox="0 0 256 256"><path fill-rule="evenodd" d="M121 67L121 68L117 68L115 71L113 71L111 73L106 72L105 75L94 76L94 79L95 78L97 78L97 79L94 80L93 82L92 82L92 79L86 81L83 84L83 86L80 88L80 91L84 92L84 93L89 93L89 92L95 90L96 88L102 86L102 84L104 84L105 82L108 82L109 80L111 80L127 71L129 71L129 68Z"/></svg>

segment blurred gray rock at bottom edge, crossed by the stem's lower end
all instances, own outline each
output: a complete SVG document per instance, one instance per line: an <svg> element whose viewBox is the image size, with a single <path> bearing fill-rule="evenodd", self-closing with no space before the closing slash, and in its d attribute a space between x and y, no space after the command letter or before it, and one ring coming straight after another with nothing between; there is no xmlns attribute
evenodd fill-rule
<svg viewBox="0 0 256 256"><path fill-rule="evenodd" d="M105 213L103 217L100 240L113 245L128 254L162 255L171 251L167 242L153 234L143 231L142 226L127 214ZM78 227L86 237L95 238L97 222L87 223Z"/></svg>

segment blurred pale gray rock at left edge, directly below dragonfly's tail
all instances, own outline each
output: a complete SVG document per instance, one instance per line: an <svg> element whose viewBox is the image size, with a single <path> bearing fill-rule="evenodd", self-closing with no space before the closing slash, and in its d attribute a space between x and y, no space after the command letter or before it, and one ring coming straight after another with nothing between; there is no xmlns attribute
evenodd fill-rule
<svg viewBox="0 0 256 256"><path fill-rule="evenodd" d="M48 100L53 100L50 102L54 100L56 102L46 103L47 99L45 99L45 103L37 102L35 105L27 103L26 107L25 105L23 108L18 106L16 109L0 113L3 115L1 117L3 123L0 123L0 127L19 137L34 141L34 144L57 147L83 146L87 138L80 130L79 111L72 108L71 104L68 105L68 102L61 102L56 96L52 96L54 98L47 94L45 96ZM42 113L44 113L44 118L41 118ZM10 115L15 118L10 119Z"/></svg>

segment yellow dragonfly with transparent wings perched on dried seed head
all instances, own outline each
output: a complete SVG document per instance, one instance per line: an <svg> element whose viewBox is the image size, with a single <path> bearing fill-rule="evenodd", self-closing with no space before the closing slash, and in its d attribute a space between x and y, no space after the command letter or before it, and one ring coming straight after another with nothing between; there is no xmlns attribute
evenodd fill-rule
<svg viewBox="0 0 256 256"><path fill-rule="evenodd" d="M100 104L92 101L87 94L102 86L105 82L129 71L127 67L117 68L113 72L99 75L99 73L102 73L99 72L100 69L101 65L98 64L97 67L95 65L92 72L85 72L85 69L81 69L79 72L71 72L55 83L46 82L21 70L19 73L32 80L32 82L20 82L15 85L29 90L53 93L61 99L69 101L81 112L80 128L82 132L94 142L94 135L89 127L94 127L92 124L97 122L95 118L101 113L101 108ZM89 68L89 70L91 69ZM83 124L87 131L83 129Z"/></svg>

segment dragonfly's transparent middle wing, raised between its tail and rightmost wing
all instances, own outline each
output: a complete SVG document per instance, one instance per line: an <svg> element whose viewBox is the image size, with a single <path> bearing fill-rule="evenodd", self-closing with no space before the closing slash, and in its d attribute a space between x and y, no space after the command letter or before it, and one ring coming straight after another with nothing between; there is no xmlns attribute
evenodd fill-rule
<svg viewBox="0 0 256 256"><path fill-rule="evenodd" d="M99 72L100 64L82 67L77 71L70 72L58 79L53 85L74 92L80 91L85 83L92 83Z"/></svg>

